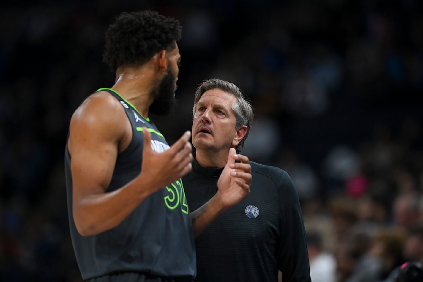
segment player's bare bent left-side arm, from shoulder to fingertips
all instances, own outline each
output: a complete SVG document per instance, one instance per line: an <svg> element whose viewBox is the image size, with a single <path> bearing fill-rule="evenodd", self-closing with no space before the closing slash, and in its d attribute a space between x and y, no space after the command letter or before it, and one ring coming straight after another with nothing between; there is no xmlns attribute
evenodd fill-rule
<svg viewBox="0 0 423 282"><path fill-rule="evenodd" d="M156 153L144 130L142 170L125 186L106 192L118 153L132 138L121 104L101 92L75 111L69 127L68 149L73 181L73 216L81 235L93 235L120 224L148 195L179 179L191 169L190 132L170 149Z"/></svg>

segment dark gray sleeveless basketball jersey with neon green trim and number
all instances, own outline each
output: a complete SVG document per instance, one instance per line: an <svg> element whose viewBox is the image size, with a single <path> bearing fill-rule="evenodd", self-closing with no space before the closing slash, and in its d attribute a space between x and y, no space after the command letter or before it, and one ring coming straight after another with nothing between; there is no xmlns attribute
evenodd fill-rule
<svg viewBox="0 0 423 282"><path fill-rule="evenodd" d="M118 99L132 126L132 140L117 156L106 191L110 192L139 175L143 126L151 132L154 151L165 151L169 145L154 123L140 115L119 93L109 88L98 91L107 91ZM78 233L72 215L71 157L67 144L65 172L70 233L83 279L122 271L182 279L195 277L194 238L181 179L148 196L120 225L85 237Z"/></svg>

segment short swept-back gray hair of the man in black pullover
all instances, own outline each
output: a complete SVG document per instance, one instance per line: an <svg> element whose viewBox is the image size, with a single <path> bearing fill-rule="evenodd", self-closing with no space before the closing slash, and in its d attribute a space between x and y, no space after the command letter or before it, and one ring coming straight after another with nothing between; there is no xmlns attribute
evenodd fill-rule
<svg viewBox="0 0 423 282"><path fill-rule="evenodd" d="M212 78L212 79L204 80L195 91L194 108L192 110L193 115L195 115L195 112L197 110L197 104L198 104L198 101L200 101L201 96L204 94L204 92L211 89L220 89L236 97L237 101L232 106L232 110L233 112L235 112L235 118L236 118L235 129L239 129L239 127L243 125L247 126L247 133L244 135L244 138L242 138L242 140L238 143L238 145L235 148L236 152L240 153L242 149L244 148L244 142L247 139L248 134L250 134L251 123L253 122L253 118L254 118L253 107L245 99L244 94L242 94L238 86L228 81Z"/></svg>

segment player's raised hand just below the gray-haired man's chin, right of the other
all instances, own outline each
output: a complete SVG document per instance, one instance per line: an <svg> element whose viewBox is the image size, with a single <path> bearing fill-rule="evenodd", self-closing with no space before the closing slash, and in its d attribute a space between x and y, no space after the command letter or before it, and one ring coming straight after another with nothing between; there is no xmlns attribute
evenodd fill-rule
<svg viewBox="0 0 423 282"><path fill-rule="evenodd" d="M240 162L235 162L235 161ZM228 162L223 168L219 181L217 181L217 195L219 195L222 204L229 208L239 203L247 194L250 193L250 184L252 180L251 166L248 164L246 156L236 154L234 148L229 150Z"/></svg>

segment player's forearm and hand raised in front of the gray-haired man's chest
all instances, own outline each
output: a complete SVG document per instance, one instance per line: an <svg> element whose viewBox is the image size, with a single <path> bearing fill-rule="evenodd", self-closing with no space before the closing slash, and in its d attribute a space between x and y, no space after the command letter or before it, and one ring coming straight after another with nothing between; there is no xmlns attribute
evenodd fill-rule
<svg viewBox="0 0 423 282"><path fill-rule="evenodd" d="M207 203L190 213L194 236L198 236L217 216L247 196L251 181L248 158L236 154L235 149L231 148L228 162L217 181L219 190Z"/></svg>

